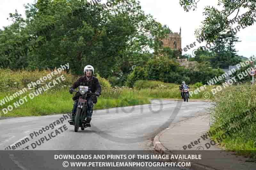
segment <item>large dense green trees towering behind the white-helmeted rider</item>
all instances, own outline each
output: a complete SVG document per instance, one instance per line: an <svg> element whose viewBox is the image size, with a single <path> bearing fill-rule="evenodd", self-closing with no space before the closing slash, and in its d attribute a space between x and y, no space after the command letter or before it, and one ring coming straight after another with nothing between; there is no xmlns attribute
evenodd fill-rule
<svg viewBox="0 0 256 170"><path fill-rule="evenodd" d="M26 19L11 13L13 24L0 34L5 66L16 69L22 64L10 62L12 53L18 53L19 60L23 56L23 66L30 69L69 63L73 73L81 74L91 64L105 78L122 77L143 65L149 51L157 51L160 39L170 33L135 0L116 0L107 9L100 3L87 5L86 0L38 0L26 9ZM146 25L138 25L145 20ZM151 29L152 24L159 28ZM154 38L139 34L141 30Z"/></svg>

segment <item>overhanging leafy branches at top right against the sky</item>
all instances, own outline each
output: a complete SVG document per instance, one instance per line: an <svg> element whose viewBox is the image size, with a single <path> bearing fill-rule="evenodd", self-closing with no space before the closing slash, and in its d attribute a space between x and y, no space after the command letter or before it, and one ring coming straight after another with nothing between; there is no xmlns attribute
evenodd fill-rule
<svg viewBox="0 0 256 170"><path fill-rule="evenodd" d="M180 0L180 5L185 11L197 8L197 3L200 0ZM197 37L201 37L207 42L212 42L218 38L221 31L231 31L231 23L234 22L236 17L239 17L239 24L243 26L251 26L256 21L256 1L255 0L218 0L218 6L222 6L219 11L215 7L206 6L204 8L203 26L195 31ZM238 16L241 9L246 9L242 16ZM232 16L232 14L234 16ZM232 16L232 17L231 17Z"/></svg>

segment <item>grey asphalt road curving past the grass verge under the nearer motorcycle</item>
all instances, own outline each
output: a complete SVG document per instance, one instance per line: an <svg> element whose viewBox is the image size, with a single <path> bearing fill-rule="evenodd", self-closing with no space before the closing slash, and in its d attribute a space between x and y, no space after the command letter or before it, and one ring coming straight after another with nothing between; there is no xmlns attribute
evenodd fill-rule
<svg viewBox="0 0 256 170"><path fill-rule="evenodd" d="M210 103L204 101L152 100L149 105L94 110L92 127L79 128L78 132L67 122L70 118L67 114L3 119L0 120L0 150L153 150L152 139L157 133L171 123L203 115L208 108ZM42 156L38 152L37 155ZM9 154L8 161L16 160ZM18 167L23 170L32 168L22 165Z"/></svg>

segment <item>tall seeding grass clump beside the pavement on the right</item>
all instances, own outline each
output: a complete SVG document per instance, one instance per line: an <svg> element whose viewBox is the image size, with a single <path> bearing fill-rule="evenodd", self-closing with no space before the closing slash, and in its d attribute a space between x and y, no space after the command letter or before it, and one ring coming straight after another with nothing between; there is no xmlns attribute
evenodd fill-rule
<svg viewBox="0 0 256 170"><path fill-rule="evenodd" d="M212 139L227 150L256 158L256 85L229 86L212 100L211 120L214 124L210 130L217 131ZM227 131L230 135L221 138Z"/></svg>

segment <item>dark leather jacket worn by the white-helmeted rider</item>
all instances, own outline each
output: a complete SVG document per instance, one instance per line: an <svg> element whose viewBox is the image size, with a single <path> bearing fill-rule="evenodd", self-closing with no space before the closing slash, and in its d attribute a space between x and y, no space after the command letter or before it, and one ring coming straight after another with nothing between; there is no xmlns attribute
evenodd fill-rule
<svg viewBox="0 0 256 170"><path fill-rule="evenodd" d="M92 93L99 92L101 93L101 86L98 78L92 76L89 80L87 80L86 76L82 76L76 80L76 82L69 89L76 89L80 85L88 86ZM73 100L77 100L79 98L80 93L76 92L75 96L72 98ZM87 97L91 97L92 94L88 94ZM93 99L94 103L97 103L97 98Z"/></svg>

